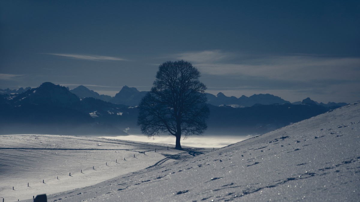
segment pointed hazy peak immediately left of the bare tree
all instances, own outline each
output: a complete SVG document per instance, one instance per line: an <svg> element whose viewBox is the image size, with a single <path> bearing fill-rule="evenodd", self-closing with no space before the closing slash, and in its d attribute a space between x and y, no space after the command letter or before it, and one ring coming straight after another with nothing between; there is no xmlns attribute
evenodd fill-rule
<svg viewBox="0 0 360 202"><path fill-rule="evenodd" d="M146 93L147 91L138 91L138 89L134 87L124 86L109 102L137 106Z"/></svg>

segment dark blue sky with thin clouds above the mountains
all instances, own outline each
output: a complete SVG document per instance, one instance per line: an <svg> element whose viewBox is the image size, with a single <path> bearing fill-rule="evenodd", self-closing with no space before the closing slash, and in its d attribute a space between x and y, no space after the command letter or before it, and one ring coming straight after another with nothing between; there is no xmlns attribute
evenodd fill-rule
<svg viewBox="0 0 360 202"><path fill-rule="evenodd" d="M207 92L360 100L360 1L0 1L0 88L148 91L187 60Z"/></svg>

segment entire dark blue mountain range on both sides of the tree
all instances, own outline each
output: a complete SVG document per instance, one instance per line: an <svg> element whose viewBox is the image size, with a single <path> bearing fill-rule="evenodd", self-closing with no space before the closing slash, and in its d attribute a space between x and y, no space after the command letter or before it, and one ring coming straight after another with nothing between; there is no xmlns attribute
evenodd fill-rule
<svg viewBox="0 0 360 202"><path fill-rule="evenodd" d="M45 82L23 93L0 95L0 134L140 134L135 105L145 93L125 86L107 102L99 98L110 96L99 95L84 86L69 90ZM338 107L321 106L310 98L301 105L293 105L270 94L240 98L222 93L207 96L210 118L206 134L214 135L262 134ZM241 103L257 104L234 107Z"/></svg>

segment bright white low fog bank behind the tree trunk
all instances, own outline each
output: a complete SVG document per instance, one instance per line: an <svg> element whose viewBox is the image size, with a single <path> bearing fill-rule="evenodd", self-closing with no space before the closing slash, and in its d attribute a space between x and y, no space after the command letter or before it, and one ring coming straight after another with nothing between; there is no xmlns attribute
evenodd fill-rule
<svg viewBox="0 0 360 202"><path fill-rule="evenodd" d="M143 134L129 135L129 136L100 136L101 138L110 139L122 139L129 141L151 142L151 143L165 143L175 144L175 137L170 135L156 136L154 138L148 138ZM189 138L181 139L181 146L189 147L225 147L229 144L234 144L244 139L248 139L251 136L190 136Z"/></svg>

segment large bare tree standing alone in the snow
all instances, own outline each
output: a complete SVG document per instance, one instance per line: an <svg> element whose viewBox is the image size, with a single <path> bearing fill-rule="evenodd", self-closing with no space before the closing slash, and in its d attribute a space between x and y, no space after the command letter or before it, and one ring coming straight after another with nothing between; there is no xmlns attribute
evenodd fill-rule
<svg viewBox="0 0 360 202"><path fill-rule="evenodd" d="M197 68L184 60L159 65L151 91L139 104L141 132L147 137L167 132L176 137L178 150L182 135L202 134L207 128L209 108L200 76Z"/></svg>

